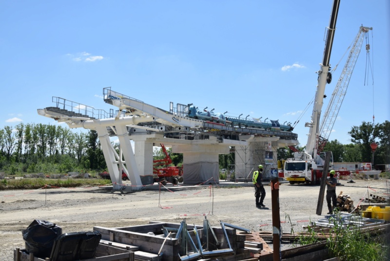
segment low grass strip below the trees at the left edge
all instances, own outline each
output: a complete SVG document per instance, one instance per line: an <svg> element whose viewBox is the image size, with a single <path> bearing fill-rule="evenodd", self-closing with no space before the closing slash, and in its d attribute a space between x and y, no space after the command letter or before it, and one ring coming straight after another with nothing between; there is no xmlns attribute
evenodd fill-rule
<svg viewBox="0 0 390 261"><path fill-rule="evenodd" d="M110 184L110 180L104 179L3 179L0 182L0 190L7 189L38 189L45 185L53 187L81 187L81 186L101 186Z"/></svg>

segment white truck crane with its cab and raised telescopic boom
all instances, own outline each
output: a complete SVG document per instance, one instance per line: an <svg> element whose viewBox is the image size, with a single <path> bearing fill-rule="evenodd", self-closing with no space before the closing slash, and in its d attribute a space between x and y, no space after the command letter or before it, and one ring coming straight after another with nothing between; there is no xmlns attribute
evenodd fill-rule
<svg viewBox="0 0 390 261"><path fill-rule="evenodd" d="M314 106L312 112L312 120L305 124L305 127L309 127L309 137L304 152L294 152L294 158L287 159L284 165L284 176L290 183L316 183L316 173L324 166L324 159L317 155L318 140L319 140L319 120L321 115L321 109L324 100L325 85L331 83L331 49L334 38L334 31L336 30L336 21L338 15L338 9L340 6L340 0L334 0L331 9L331 19L329 21L329 27L327 31L327 37L325 42L324 55L322 63L320 64L320 70L318 73L317 90L314 98Z"/></svg>

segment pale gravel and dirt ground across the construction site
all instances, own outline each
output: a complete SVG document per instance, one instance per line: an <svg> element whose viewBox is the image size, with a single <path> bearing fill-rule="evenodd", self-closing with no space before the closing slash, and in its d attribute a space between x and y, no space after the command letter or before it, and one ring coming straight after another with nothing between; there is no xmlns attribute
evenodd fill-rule
<svg viewBox="0 0 390 261"><path fill-rule="evenodd" d="M344 195L350 195L356 206L367 193L388 193L389 180L340 183L342 186L336 187L336 193L343 191ZM21 231L34 220L56 223L63 233L70 233L92 231L94 226L124 227L149 221L180 223L183 219L201 226L207 216L213 226L220 226L223 221L252 231L272 231L270 186L265 186L266 207L258 209L252 184L223 185L227 184L221 181L220 186L172 190L167 187L161 191L156 187L128 194L98 187L0 191L0 261L13 261L13 250L25 247ZM315 214L319 189L305 184L281 184L279 205L284 232L303 231L303 225L323 217ZM324 201L322 214L326 212Z"/></svg>

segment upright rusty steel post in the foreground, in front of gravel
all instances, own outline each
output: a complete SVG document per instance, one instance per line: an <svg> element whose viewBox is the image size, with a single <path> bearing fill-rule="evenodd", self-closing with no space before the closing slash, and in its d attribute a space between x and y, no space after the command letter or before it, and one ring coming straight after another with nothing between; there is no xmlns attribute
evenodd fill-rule
<svg viewBox="0 0 390 261"><path fill-rule="evenodd" d="M279 178L271 181L271 201L272 201L272 234L273 234L273 261L280 261L280 209L279 209Z"/></svg>

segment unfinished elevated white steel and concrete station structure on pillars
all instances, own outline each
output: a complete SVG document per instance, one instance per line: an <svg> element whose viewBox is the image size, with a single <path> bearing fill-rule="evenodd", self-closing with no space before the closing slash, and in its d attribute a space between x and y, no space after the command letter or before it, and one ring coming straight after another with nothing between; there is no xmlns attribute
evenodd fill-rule
<svg viewBox="0 0 390 261"><path fill-rule="evenodd" d="M265 122L225 117L212 111L199 112L192 104L177 103L174 107L173 102L166 111L112 91L111 87L104 88L103 95L103 100L117 109L105 112L53 97L56 106L38 109L38 114L66 122L70 128L97 131L114 190L139 191L153 183L153 179L148 177L153 173L154 143L164 143L172 147L174 153L183 153L185 184L218 183L218 155L230 153L232 147L247 147L249 138L263 137L261 141L273 142L274 153L277 147L298 143L291 126L281 125L277 120ZM111 143L110 137L113 136L119 140L119 154ZM269 137L274 138L270 140ZM135 152L130 140L135 143ZM246 165L237 170L242 169L245 176L250 169L248 164L262 163L261 159L240 160L242 157L237 151L236 164ZM123 185L121 169L131 181L131 186Z"/></svg>

